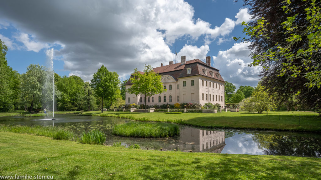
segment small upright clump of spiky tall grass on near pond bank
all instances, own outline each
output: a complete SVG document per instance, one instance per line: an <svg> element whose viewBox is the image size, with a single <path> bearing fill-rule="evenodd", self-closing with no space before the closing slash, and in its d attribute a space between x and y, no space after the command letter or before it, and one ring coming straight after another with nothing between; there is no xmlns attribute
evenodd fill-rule
<svg viewBox="0 0 321 180"><path fill-rule="evenodd" d="M104 144L107 136L101 130L93 130L88 133L83 132L80 136L80 143L83 144Z"/></svg>

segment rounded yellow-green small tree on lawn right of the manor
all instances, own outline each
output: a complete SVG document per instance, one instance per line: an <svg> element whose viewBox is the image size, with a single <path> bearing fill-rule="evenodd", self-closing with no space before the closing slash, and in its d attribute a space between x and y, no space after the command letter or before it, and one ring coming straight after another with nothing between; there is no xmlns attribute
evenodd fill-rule
<svg viewBox="0 0 321 180"><path fill-rule="evenodd" d="M275 107L273 97L266 91L265 87L258 85L252 93L252 96L243 99L240 103L241 108L245 111L263 113L265 110L271 110Z"/></svg>

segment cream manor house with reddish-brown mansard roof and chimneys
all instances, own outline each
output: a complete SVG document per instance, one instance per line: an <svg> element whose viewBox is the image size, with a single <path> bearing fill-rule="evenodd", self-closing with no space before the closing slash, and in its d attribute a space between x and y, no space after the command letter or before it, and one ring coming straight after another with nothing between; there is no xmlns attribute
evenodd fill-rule
<svg viewBox="0 0 321 180"><path fill-rule="evenodd" d="M186 61L181 57L180 63L169 61L169 65L154 68L161 75L165 93L155 94L145 98L145 95L135 95L126 92L126 104L161 105L175 103L197 102L204 105L207 102L219 103L224 107L224 83L219 70L211 67L211 56L206 57L206 63L199 59ZM140 72L143 73L143 72ZM133 76L132 76L133 77ZM126 83L126 89L132 86Z"/></svg>

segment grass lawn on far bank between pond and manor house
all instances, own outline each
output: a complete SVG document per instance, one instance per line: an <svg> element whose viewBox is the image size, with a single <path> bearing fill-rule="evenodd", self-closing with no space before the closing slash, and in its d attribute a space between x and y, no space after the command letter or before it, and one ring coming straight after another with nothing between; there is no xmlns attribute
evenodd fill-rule
<svg viewBox="0 0 321 180"><path fill-rule="evenodd" d="M279 115L280 114L280 115ZM222 113L183 113L166 114L164 112L133 113L133 112L103 112L88 111L82 115L110 116L140 121L160 121L185 124L197 127L269 129L288 131L321 132L321 118L316 113L303 111L276 111L267 115L247 112Z"/></svg>

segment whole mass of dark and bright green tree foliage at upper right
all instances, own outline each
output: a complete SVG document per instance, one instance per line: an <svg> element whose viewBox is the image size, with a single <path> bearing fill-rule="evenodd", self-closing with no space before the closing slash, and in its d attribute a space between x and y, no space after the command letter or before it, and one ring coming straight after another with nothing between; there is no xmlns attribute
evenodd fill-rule
<svg viewBox="0 0 321 180"><path fill-rule="evenodd" d="M321 108L321 2L244 0L254 21L242 23L251 44L252 66L263 67L262 85L281 102ZM240 38L235 38L239 40Z"/></svg>

